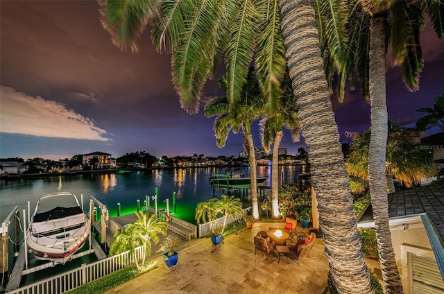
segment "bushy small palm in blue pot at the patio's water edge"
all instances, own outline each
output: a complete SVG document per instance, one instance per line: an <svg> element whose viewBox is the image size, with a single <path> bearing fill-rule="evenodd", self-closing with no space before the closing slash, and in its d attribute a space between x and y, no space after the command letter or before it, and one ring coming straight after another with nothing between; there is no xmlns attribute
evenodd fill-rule
<svg viewBox="0 0 444 294"><path fill-rule="evenodd" d="M211 239L213 245L219 245L222 242L223 230L226 227L228 217L241 217L244 214L242 202L234 196L222 195L221 199L211 198L199 202L196 206L195 218L198 223L210 223ZM222 225L218 223L217 217L222 216Z"/></svg>

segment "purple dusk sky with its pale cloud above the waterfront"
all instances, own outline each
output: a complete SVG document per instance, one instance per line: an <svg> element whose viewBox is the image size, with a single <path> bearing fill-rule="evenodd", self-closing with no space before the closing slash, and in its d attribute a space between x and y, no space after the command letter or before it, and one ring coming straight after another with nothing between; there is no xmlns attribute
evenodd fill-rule
<svg viewBox="0 0 444 294"><path fill-rule="evenodd" d="M0 1L0 157L71 158L102 151L119 157L144 150L155 156L234 155L241 135L218 148L214 118L180 108L171 83L170 56L156 53L148 29L140 52L122 53L99 20L96 1ZM444 89L444 40L427 23L420 90L411 93L397 67L387 72L388 115L411 127ZM220 94L214 81L204 96ZM343 103L332 97L339 133L366 130L370 105L359 91ZM200 107L202 110L202 107ZM257 130L257 128L255 128ZM259 148L259 135L255 134ZM284 133L296 155L302 143Z"/></svg>

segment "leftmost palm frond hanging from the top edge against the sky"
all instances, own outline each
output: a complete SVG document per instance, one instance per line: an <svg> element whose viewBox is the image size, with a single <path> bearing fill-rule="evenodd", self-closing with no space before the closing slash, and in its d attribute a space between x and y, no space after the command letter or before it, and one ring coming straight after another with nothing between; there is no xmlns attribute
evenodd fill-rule
<svg viewBox="0 0 444 294"><path fill-rule="evenodd" d="M101 24L121 51L138 51L137 37L142 34L148 20L153 16L156 2L99 0Z"/></svg>

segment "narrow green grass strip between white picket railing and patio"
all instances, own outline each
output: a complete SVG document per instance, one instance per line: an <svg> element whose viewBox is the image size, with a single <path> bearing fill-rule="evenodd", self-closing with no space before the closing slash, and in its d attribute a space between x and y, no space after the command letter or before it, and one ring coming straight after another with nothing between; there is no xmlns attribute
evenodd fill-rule
<svg viewBox="0 0 444 294"><path fill-rule="evenodd" d="M134 279L135 277L139 277L139 275L143 275L144 273L148 273L149 271L157 268L154 263L148 265L147 268L143 270L136 270L135 266L128 266L126 268L122 268L115 273L110 275L106 275L105 277L101 277L100 279L96 279L95 281L89 282L83 286L75 288L67 293L69 294L99 294L103 293L110 288L114 288L115 286L119 286L125 282L128 282L130 279Z"/></svg>

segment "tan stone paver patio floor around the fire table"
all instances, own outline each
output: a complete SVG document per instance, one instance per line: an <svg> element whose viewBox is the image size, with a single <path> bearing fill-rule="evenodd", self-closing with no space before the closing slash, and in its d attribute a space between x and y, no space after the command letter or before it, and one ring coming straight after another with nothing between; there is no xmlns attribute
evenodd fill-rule
<svg viewBox="0 0 444 294"><path fill-rule="evenodd" d="M178 250L176 267L168 269L162 258L151 257L158 268L105 293L325 293L329 266L322 240L299 265L291 258L289 264L273 256L267 261L262 252L255 255L253 236L270 225L255 223L219 246L210 239L187 241Z"/></svg>

